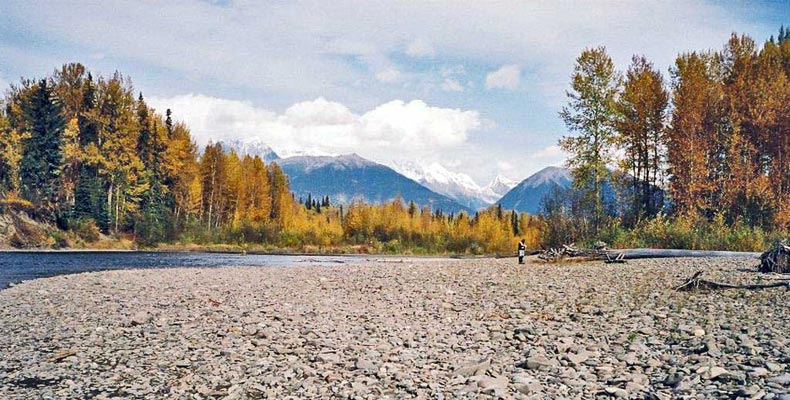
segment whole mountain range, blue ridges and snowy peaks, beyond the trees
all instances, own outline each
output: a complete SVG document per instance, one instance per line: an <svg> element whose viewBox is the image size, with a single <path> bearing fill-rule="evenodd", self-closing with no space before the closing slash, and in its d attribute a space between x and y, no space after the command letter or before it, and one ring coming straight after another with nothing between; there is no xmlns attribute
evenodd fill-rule
<svg viewBox="0 0 790 400"><path fill-rule="evenodd" d="M492 204L506 209L535 214L543 196L554 186L569 187L567 169L548 167L517 183L497 176L488 185L478 185L470 176L453 172L439 163L379 164L356 154L341 156L299 155L280 158L260 140L221 142L227 151L239 155L259 156L276 162L288 176L297 197L329 196L335 204L349 204L355 199L382 203L400 197L420 206L445 212L473 213Z"/></svg>

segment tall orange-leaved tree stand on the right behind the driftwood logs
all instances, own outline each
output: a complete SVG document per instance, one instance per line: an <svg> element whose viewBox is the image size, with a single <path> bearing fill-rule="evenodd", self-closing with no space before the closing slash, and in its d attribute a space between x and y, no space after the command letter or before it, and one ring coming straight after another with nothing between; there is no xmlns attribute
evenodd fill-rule
<svg viewBox="0 0 790 400"><path fill-rule="evenodd" d="M733 33L720 51L680 54L669 79L644 56L623 74L604 47L588 48L567 95L560 117L571 134L560 145L574 193L546 201L555 240L657 217L790 228L790 29L762 46Z"/></svg>

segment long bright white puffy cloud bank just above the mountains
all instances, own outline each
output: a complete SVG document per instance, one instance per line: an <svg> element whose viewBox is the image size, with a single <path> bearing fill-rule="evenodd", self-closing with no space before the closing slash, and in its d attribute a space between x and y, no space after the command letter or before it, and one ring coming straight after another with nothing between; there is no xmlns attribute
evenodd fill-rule
<svg viewBox="0 0 790 400"><path fill-rule="evenodd" d="M356 152L381 162L461 146L487 123L477 111L433 107L422 100L393 100L362 115L324 98L296 103L282 114L200 94L148 101L158 110L172 109L201 146L257 138L278 152Z"/></svg>

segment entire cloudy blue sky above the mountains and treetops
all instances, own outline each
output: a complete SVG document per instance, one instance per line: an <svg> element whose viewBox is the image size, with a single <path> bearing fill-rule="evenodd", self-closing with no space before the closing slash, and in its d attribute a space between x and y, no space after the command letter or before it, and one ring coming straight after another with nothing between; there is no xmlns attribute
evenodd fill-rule
<svg viewBox="0 0 790 400"><path fill-rule="evenodd" d="M3 0L0 87L81 62L130 76L201 145L435 162L485 185L563 163L583 49L668 78L678 53L782 24L788 1Z"/></svg>

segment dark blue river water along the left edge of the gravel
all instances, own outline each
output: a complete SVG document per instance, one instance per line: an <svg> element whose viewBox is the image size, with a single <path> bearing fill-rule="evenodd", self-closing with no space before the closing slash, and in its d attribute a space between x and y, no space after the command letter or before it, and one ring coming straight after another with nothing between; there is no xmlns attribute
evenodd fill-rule
<svg viewBox="0 0 790 400"><path fill-rule="evenodd" d="M378 256L313 256L194 252L0 252L0 289L48 276L111 269L336 265ZM397 260L397 259L396 259Z"/></svg>

